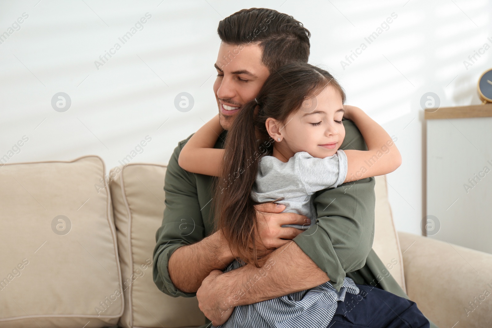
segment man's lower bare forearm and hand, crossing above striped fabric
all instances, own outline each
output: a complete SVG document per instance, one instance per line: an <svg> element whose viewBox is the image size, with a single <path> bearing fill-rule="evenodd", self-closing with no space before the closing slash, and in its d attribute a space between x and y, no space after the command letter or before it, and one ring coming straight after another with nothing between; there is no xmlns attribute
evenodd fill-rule
<svg viewBox="0 0 492 328"><path fill-rule="evenodd" d="M321 285L325 272L293 241L277 248L262 264L222 273L214 270L204 279L196 296L200 310L214 326L222 325L234 307L277 298Z"/></svg>

